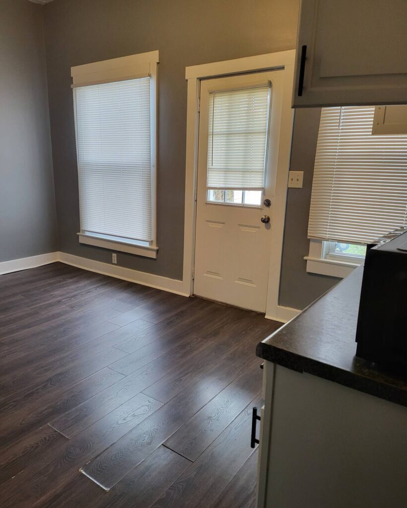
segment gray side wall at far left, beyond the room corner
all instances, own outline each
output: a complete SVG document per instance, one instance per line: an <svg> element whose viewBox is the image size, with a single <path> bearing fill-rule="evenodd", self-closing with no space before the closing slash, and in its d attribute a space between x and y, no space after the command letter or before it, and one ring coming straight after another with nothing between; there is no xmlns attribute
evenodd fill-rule
<svg viewBox="0 0 407 508"><path fill-rule="evenodd" d="M0 0L0 262L57 250L42 7Z"/></svg>

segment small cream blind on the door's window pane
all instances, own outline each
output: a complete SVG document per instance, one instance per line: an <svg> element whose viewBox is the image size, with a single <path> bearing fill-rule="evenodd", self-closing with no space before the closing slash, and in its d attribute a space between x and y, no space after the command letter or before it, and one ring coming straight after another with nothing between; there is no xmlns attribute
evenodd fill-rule
<svg viewBox="0 0 407 508"><path fill-rule="evenodd" d="M264 186L270 86L209 94L207 187Z"/></svg>

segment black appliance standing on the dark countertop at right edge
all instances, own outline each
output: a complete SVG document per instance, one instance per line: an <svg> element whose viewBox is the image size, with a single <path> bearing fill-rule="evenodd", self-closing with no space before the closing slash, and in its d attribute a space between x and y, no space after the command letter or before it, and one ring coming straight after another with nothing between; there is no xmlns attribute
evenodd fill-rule
<svg viewBox="0 0 407 508"><path fill-rule="evenodd" d="M407 370L407 228L367 246L356 356Z"/></svg>

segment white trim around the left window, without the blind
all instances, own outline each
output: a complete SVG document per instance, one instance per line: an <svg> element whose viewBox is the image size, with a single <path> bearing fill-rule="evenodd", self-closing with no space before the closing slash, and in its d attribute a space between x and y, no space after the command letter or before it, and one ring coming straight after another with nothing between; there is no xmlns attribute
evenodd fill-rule
<svg viewBox="0 0 407 508"><path fill-rule="evenodd" d="M157 235L157 65L160 61L159 51L149 51L137 55L122 56L93 63L71 67L72 86L108 83L124 79L135 79L150 76L150 130L151 130L151 242L131 240L129 238L113 239L107 235L80 231L77 233L79 243L103 247L109 250L127 252L146 258L156 259L158 246Z"/></svg>

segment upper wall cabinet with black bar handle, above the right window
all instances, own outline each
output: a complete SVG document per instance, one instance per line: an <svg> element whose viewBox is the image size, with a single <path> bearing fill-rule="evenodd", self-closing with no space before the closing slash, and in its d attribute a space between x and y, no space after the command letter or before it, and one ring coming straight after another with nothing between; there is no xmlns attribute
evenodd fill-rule
<svg viewBox="0 0 407 508"><path fill-rule="evenodd" d="M407 103L407 0L302 0L293 106Z"/></svg>

